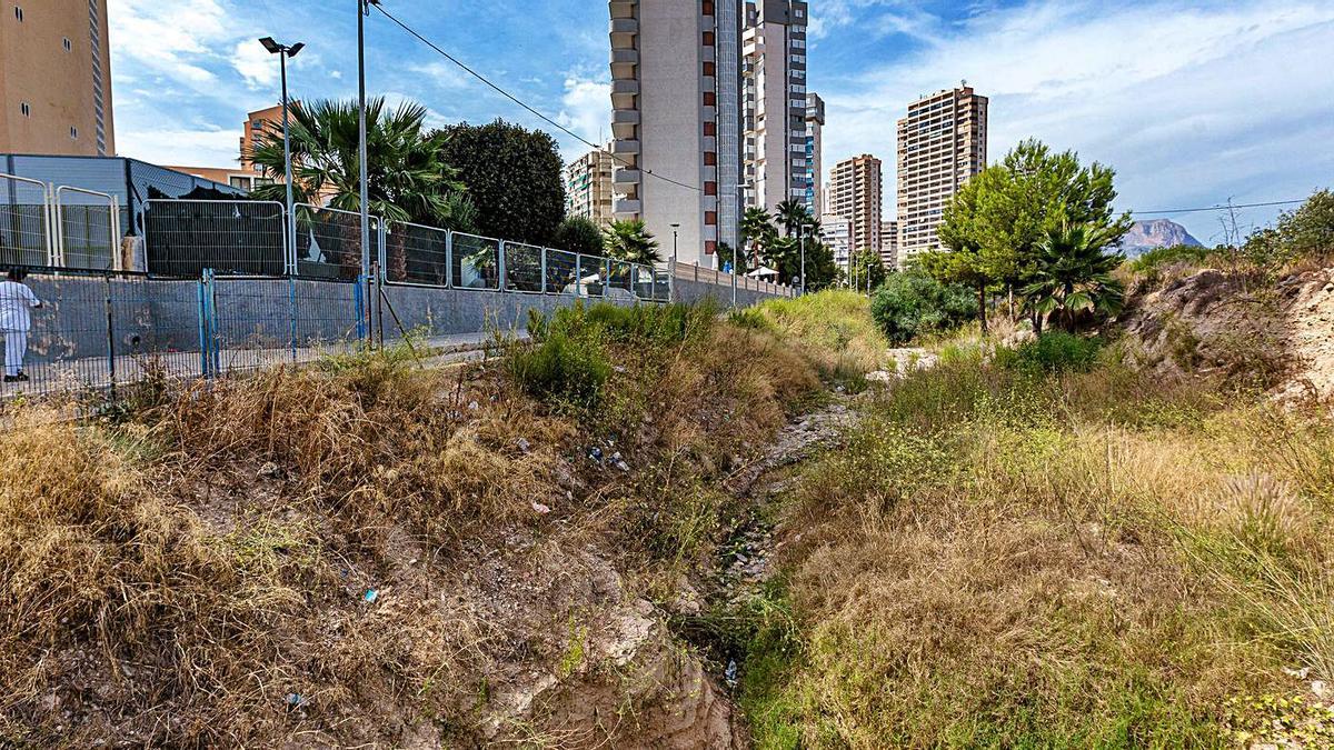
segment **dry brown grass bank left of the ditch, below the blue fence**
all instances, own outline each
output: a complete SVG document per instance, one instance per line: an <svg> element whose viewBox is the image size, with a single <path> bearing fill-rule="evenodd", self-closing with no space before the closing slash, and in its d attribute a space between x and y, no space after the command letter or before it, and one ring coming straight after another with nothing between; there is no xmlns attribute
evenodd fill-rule
<svg viewBox="0 0 1334 750"><path fill-rule="evenodd" d="M124 423L17 412L0 745L474 745L534 675L588 678L570 623L606 635L618 567L707 559L706 482L819 388L768 332L640 343L610 347L596 414L392 351L149 394Z"/></svg>

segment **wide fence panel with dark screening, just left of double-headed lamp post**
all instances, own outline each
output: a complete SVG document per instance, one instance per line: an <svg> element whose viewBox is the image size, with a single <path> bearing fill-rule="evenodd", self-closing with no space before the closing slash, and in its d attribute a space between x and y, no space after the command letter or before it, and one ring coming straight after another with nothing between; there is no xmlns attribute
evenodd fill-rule
<svg viewBox="0 0 1334 750"><path fill-rule="evenodd" d="M287 272L285 211L260 200L148 200L148 272L199 278L281 276Z"/></svg>

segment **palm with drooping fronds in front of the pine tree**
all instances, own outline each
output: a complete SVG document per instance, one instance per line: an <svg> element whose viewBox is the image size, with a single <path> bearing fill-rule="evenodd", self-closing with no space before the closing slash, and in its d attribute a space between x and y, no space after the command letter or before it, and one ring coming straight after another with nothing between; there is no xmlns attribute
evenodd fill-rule
<svg viewBox="0 0 1334 750"><path fill-rule="evenodd" d="M1038 246L1033 283L1023 288L1039 334L1046 316L1054 316L1074 332L1079 312L1121 311L1126 288L1111 274L1126 258L1105 252L1117 239L1115 227L1098 224L1062 226L1047 234Z"/></svg>

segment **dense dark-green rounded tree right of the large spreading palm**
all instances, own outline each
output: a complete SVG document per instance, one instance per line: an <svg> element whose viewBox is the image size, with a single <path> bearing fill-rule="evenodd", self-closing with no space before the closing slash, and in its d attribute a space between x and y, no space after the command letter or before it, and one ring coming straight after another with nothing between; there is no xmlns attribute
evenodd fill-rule
<svg viewBox="0 0 1334 750"><path fill-rule="evenodd" d="M440 131L444 157L459 169L478 207L483 235L551 244L566 215L564 163L542 131L496 120Z"/></svg>

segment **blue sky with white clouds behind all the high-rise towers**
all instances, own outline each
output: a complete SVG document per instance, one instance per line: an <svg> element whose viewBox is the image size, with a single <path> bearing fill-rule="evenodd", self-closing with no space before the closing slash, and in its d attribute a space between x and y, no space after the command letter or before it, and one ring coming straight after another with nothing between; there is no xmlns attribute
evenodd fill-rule
<svg viewBox="0 0 1334 750"><path fill-rule="evenodd" d="M680 0L687 1L687 0ZM602 0L384 0L439 45L584 137L607 136ZM224 165L248 109L277 100L272 35L309 47L301 97L355 96L354 0L109 0L121 155ZM810 85L828 103L824 160L894 161L894 121L967 79L991 97L999 159L1038 136L1117 168L1122 208L1303 198L1334 187L1334 3L811 0ZM368 85L439 123L531 115L387 19L368 20ZM567 157L583 147L558 135ZM886 214L894 179L886 172ZM1245 231L1277 210L1239 214ZM1170 216L1201 240L1218 216Z"/></svg>

